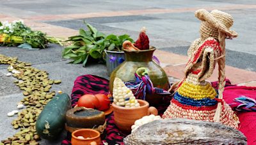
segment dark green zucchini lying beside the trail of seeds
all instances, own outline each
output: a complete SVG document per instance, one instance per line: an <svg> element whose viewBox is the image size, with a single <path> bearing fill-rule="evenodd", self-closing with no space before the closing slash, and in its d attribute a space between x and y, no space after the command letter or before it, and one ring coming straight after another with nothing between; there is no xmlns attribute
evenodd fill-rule
<svg viewBox="0 0 256 145"><path fill-rule="evenodd" d="M65 116L71 108L67 93L58 94L48 102L36 120L36 132L43 139L53 140L65 128Z"/></svg>

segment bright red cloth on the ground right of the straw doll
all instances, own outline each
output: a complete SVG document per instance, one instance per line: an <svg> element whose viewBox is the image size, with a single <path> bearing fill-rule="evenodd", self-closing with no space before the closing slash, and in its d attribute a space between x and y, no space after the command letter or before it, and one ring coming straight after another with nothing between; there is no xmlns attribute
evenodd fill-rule
<svg viewBox="0 0 256 145"><path fill-rule="evenodd" d="M212 82L214 88L218 88L218 82ZM244 104L244 102L237 101L238 98L246 97L252 101ZM237 111L237 116L240 121L239 130L247 138L248 145L256 144L256 111L255 99L256 99L256 86L236 86L231 85L230 81L226 79L226 87L223 92L223 99L232 109Z"/></svg>

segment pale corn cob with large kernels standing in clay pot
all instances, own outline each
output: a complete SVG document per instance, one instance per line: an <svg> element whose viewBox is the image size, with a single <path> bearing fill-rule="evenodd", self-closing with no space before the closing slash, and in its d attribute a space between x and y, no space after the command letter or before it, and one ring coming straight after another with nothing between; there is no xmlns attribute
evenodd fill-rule
<svg viewBox="0 0 256 145"><path fill-rule="evenodd" d="M139 107L138 100L134 97L132 91L125 86L120 78L115 78L113 83L113 98L117 106Z"/></svg>

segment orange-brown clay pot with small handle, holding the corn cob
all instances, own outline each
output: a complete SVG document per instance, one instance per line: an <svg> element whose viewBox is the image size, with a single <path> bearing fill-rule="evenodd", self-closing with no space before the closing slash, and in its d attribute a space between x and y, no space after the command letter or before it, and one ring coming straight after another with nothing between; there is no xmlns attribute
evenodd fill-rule
<svg viewBox="0 0 256 145"><path fill-rule="evenodd" d="M115 103L112 104L115 124L124 133L131 133L131 127L134 125L134 122L143 118L143 116L158 114L156 107L149 107L147 101L138 99L138 102L140 103L140 107L134 108L116 106Z"/></svg>

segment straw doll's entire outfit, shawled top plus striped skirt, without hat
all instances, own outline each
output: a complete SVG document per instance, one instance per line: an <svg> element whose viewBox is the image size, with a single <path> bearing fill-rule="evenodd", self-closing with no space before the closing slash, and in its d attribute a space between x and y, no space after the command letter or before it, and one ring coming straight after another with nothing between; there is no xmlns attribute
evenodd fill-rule
<svg viewBox="0 0 256 145"><path fill-rule="evenodd" d="M197 46L195 44L198 44ZM214 121L218 102L221 102L220 122L238 128L239 119L218 93L205 79L211 76L221 48L213 38L197 39L189 48L186 78L177 86L177 92L162 118L187 118L191 120ZM197 49L196 49L197 48Z"/></svg>

